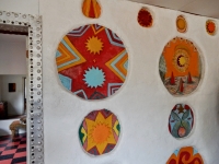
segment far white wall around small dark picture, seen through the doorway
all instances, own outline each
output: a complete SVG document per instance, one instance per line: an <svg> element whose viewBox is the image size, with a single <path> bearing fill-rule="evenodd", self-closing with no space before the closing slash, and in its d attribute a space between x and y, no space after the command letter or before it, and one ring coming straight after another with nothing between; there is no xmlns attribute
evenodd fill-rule
<svg viewBox="0 0 219 164"><path fill-rule="evenodd" d="M8 114L23 115L24 114L24 77L23 75L1 75L2 79L2 101L8 102ZM15 92L9 92L9 83L15 83Z"/></svg>

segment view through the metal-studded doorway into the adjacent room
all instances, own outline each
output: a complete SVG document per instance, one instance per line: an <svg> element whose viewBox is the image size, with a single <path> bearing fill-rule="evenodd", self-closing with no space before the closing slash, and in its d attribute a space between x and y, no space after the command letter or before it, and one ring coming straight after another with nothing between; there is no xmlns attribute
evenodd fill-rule
<svg viewBox="0 0 219 164"><path fill-rule="evenodd" d="M8 163L26 161L26 35L0 34L0 161Z"/></svg>

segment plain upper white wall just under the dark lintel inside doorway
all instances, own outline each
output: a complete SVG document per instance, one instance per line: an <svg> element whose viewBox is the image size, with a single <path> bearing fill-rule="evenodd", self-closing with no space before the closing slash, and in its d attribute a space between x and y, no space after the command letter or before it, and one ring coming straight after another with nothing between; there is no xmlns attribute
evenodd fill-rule
<svg viewBox="0 0 219 164"><path fill-rule="evenodd" d="M5 34L4 34L5 35ZM0 35L0 74L26 74L25 36Z"/></svg>

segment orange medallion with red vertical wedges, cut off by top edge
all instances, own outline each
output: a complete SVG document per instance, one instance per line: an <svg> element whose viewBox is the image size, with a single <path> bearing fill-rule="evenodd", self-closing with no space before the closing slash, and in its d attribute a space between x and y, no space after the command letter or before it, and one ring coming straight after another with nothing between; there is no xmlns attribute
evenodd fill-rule
<svg viewBox="0 0 219 164"><path fill-rule="evenodd" d="M96 0L83 0L82 12L87 17L97 19L101 15L101 5Z"/></svg>

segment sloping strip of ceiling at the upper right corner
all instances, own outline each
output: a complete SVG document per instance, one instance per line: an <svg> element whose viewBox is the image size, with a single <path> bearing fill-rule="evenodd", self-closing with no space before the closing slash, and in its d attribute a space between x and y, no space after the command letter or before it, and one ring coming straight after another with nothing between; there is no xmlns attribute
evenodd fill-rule
<svg viewBox="0 0 219 164"><path fill-rule="evenodd" d="M219 0L129 0L219 19Z"/></svg>

